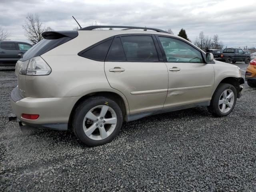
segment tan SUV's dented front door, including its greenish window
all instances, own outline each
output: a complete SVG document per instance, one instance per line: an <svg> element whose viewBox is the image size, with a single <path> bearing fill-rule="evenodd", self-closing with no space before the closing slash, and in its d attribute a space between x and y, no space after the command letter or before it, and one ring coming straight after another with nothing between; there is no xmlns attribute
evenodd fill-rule
<svg viewBox="0 0 256 192"><path fill-rule="evenodd" d="M158 37L166 56L169 84L164 108L208 102L214 86L214 68L201 52L177 38Z"/></svg>

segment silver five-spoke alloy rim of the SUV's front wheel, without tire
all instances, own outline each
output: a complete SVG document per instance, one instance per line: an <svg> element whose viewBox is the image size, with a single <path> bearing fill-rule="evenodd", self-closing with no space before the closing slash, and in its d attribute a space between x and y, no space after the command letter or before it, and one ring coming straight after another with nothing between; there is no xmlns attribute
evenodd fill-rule
<svg viewBox="0 0 256 192"><path fill-rule="evenodd" d="M234 105L234 92L231 89L224 90L219 99L219 109L222 113L227 113Z"/></svg>

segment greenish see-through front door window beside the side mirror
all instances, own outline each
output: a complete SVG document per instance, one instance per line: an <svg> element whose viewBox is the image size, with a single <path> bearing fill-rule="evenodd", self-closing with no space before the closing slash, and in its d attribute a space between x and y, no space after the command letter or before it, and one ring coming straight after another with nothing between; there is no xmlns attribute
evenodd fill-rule
<svg viewBox="0 0 256 192"><path fill-rule="evenodd" d="M159 37L168 62L202 63L201 52L191 45L174 38Z"/></svg>

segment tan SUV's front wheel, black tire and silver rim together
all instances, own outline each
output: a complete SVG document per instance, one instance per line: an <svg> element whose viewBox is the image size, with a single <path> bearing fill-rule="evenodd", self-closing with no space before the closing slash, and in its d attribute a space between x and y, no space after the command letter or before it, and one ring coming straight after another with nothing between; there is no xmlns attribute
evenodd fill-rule
<svg viewBox="0 0 256 192"><path fill-rule="evenodd" d="M226 96L227 96L226 99L224 98L225 90L226 90ZM231 92L233 92L233 96ZM230 99L228 99L229 94L231 94ZM236 98L237 98L236 88L231 84L221 83L216 88L212 96L210 106L208 106L208 111L212 113L213 116L216 116L216 117L228 116L236 105Z"/></svg>

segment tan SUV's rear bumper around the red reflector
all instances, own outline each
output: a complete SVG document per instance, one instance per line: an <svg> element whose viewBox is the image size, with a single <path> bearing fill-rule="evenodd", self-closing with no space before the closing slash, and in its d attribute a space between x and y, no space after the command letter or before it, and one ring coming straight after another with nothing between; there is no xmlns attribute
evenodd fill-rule
<svg viewBox="0 0 256 192"><path fill-rule="evenodd" d="M23 126L66 130L70 113L80 97L22 98L17 88L11 93L12 111ZM22 113L38 114L36 120L22 118ZM60 128L60 126L63 126Z"/></svg>

